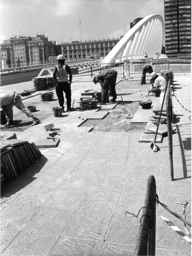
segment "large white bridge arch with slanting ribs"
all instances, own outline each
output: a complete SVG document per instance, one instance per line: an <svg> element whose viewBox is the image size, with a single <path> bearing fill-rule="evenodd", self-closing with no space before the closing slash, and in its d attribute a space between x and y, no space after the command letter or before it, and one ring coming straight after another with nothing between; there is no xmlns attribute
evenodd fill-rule
<svg viewBox="0 0 192 256"><path fill-rule="evenodd" d="M104 58L103 63L144 58L161 53L164 20L159 14L148 15L131 28Z"/></svg>

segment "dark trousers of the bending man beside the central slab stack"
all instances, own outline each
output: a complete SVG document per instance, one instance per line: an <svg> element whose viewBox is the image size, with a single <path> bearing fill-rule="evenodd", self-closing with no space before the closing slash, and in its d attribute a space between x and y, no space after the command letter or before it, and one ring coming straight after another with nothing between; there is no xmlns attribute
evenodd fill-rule
<svg viewBox="0 0 192 256"><path fill-rule="evenodd" d="M107 98L107 94L110 87L110 92L112 94L113 99L117 98L117 94L115 91L115 85L117 80L117 74L108 73L108 75L104 78L103 86L101 88L101 100L105 101Z"/></svg>

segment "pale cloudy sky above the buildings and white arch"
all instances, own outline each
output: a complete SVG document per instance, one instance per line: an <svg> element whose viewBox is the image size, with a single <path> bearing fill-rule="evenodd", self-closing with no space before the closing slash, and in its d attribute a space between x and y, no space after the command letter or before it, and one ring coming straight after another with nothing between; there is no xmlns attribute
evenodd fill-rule
<svg viewBox="0 0 192 256"><path fill-rule="evenodd" d="M164 0L1 0L0 43L37 34L56 44L120 38L151 14L164 18Z"/></svg>

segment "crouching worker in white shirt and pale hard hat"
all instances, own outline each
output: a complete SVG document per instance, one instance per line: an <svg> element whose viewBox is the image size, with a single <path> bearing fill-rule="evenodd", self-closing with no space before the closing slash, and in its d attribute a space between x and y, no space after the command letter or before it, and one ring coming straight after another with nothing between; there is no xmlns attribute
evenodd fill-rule
<svg viewBox="0 0 192 256"><path fill-rule="evenodd" d="M152 72L150 76L152 88L148 91L148 93L152 92L155 94L155 96L159 97L161 92L163 93L165 91L167 82L162 75L158 76L155 72Z"/></svg>

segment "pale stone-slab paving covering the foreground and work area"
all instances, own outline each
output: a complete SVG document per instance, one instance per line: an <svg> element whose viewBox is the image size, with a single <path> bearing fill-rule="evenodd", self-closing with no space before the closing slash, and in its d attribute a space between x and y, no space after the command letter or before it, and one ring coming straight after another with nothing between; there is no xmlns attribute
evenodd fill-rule
<svg viewBox="0 0 192 256"><path fill-rule="evenodd" d="M150 85L138 85L138 75L133 80L121 78L118 75L118 100L121 95L124 101L159 100L147 97ZM175 95L191 111L191 77L180 74L174 80ZM31 88L32 81L8 85L2 91ZM100 86L88 77L73 78L74 107L86 89L100 91ZM14 132L18 139L35 142L46 138L43 124L51 121L54 128L61 128L61 141L57 148L40 148L41 158L2 188L1 255L133 255L142 213L138 218L125 217L125 211L137 215L143 207L150 175L156 179L159 201L173 211L182 215L183 206L176 202L189 201L186 218L191 220L191 113L175 97L174 181L170 181L167 137L158 144L160 151L153 152L149 143L138 142L141 130L88 132L86 127L78 127L82 120L93 115L102 118L111 107L102 114L74 111L56 118L51 108L58 101L40 102L39 97L23 102L37 103L37 117L44 113L42 123L27 124L22 131L17 127ZM16 119L25 119L20 111L14 111ZM144 111L139 110L139 115L146 120ZM147 113L150 118L152 109ZM191 255L190 244L167 226L160 214L185 232L181 221L157 205L156 255Z"/></svg>

